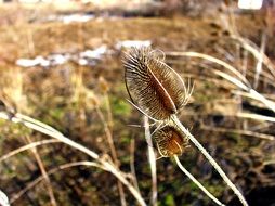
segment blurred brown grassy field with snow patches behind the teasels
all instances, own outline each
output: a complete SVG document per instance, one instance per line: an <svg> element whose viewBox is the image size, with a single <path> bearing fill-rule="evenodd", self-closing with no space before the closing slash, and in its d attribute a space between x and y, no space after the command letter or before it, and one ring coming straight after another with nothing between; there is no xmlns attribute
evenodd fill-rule
<svg viewBox="0 0 275 206"><path fill-rule="evenodd" d="M24 114L114 162L149 205L143 116L127 102L121 59L152 47L194 82L183 125L249 205L274 206L274 0L0 0L0 110L10 115L0 119L0 190L16 206L123 205L123 196L139 205L109 172L74 165L93 162L88 155L12 121ZM239 205L194 146L180 159ZM214 205L173 159L156 164L153 205Z"/></svg>

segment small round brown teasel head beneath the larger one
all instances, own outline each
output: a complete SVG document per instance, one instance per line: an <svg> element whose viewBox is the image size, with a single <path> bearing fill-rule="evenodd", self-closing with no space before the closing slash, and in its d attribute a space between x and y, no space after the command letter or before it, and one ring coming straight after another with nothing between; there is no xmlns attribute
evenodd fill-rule
<svg viewBox="0 0 275 206"><path fill-rule="evenodd" d="M183 137L175 126L165 126L154 134L155 142L161 156L182 155L188 146L188 139Z"/></svg>

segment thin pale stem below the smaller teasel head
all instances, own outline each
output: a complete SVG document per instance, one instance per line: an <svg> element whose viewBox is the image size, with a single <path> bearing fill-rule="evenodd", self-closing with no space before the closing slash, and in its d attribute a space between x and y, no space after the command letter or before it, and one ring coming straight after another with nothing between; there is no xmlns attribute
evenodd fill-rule
<svg viewBox="0 0 275 206"><path fill-rule="evenodd" d="M197 186L209 197L211 198L213 202L215 202L217 205L221 205L221 206L225 206L224 204L222 204L218 198L215 198L210 192L208 192L208 190L196 179L194 178L194 176L192 176L191 172L188 172L188 170L186 170L183 165L181 164L180 159L178 158L176 155L174 155L174 160L176 163L176 165L180 167L180 169L195 183L197 184Z"/></svg>

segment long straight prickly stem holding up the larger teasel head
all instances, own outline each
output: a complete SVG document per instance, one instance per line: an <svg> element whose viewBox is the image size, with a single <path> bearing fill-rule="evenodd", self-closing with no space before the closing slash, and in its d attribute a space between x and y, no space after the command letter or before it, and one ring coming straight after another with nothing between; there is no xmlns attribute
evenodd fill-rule
<svg viewBox="0 0 275 206"><path fill-rule="evenodd" d="M239 190L235 186L235 184L232 183L232 181L227 178L227 176L224 173L222 168L218 165L218 163L213 159L213 157L206 151L206 149L194 138L194 136L191 134L191 132L182 125L182 123L179 120L179 118L175 115L171 116L171 119L173 123L180 128L180 130L185 133L185 136L197 146L197 149L205 155L205 157L209 160L209 163L214 167L214 169L220 173L224 182L233 190L233 192L237 195L240 203L244 206L248 206L245 197L239 192Z"/></svg>

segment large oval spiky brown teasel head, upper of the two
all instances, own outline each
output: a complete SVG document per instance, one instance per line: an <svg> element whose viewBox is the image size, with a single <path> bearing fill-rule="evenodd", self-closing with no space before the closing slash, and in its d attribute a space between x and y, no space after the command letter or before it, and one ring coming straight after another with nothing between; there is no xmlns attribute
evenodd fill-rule
<svg viewBox="0 0 275 206"><path fill-rule="evenodd" d="M123 60L125 81L133 104L154 120L166 120L188 101L192 89L150 48L133 48Z"/></svg>

